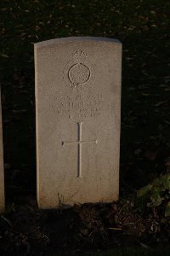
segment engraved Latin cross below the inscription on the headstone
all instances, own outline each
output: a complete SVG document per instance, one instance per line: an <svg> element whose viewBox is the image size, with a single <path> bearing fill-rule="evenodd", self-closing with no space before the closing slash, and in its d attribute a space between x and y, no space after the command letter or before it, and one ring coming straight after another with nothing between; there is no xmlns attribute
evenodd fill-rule
<svg viewBox="0 0 170 256"><path fill-rule="evenodd" d="M82 177L82 144L83 143L98 143L98 140L91 140L91 141L82 141L82 122L77 123L78 125L78 140L75 142L62 142L62 146L64 147L65 144L77 144L78 146L78 168L77 168L77 177Z"/></svg>

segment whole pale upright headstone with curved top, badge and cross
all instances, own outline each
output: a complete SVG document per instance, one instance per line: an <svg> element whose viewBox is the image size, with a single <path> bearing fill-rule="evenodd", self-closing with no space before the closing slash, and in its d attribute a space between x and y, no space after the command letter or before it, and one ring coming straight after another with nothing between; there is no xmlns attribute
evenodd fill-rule
<svg viewBox="0 0 170 256"><path fill-rule="evenodd" d="M37 200L57 207L118 199L122 44L35 44Z"/></svg>

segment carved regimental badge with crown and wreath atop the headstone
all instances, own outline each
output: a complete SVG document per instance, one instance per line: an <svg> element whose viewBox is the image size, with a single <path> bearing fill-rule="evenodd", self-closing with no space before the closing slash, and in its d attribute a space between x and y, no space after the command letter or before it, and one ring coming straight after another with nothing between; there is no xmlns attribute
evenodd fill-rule
<svg viewBox="0 0 170 256"><path fill-rule="evenodd" d="M94 82L94 67L81 49L77 49L72 60L63 71L65 84L72 90L84 90Z"/></svg>

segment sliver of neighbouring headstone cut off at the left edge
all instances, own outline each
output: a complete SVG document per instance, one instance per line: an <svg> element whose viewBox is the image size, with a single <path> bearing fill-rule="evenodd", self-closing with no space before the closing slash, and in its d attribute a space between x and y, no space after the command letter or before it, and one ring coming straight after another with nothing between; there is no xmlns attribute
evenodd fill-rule
<svg viewBox="0 0 170 256"><path fill-rule="evenodd" d="M3 172L3 125L2 125L2 106L0 94L0 212L5 207L4 201L4 172Z"/></svg>

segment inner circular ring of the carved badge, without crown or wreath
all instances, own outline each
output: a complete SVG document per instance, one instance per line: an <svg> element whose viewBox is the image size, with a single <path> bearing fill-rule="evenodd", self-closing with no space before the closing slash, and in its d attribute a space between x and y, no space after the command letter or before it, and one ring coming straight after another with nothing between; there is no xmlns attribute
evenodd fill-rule
<svg viewBox="0 0 170 256"><path fill-rule="evenodd" d="M70 68L68 75L71 83L78 86L88 82L90 69L82 63L77 63Z"/></svg>

